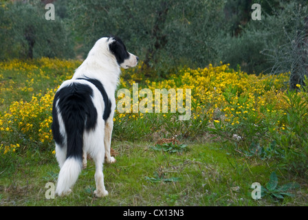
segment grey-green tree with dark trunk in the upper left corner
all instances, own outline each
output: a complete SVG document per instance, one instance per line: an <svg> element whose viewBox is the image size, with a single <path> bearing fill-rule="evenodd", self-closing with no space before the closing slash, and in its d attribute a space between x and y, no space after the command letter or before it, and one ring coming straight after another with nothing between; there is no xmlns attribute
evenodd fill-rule
<svg viewBox="0 0 308 220"><path fill-rule="evenodd" d="M73 43L60 17L45 19L45 5L38 1L5 2L0 7L0 59L72 58Z"/></svg>

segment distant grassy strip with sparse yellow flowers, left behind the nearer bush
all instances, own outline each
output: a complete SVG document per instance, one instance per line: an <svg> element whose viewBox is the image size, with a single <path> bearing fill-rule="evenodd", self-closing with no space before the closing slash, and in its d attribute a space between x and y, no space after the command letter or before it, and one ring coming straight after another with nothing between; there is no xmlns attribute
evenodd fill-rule
<svg viewBox="0 0 308 220"><path fill-rule="evenodd" d="M16 100L30 101L32 96L43 94L63 80L72 78L80 61L39 58L0 62L0 103L8 107ZM5 111L0 105L0 110Z"/></svg>

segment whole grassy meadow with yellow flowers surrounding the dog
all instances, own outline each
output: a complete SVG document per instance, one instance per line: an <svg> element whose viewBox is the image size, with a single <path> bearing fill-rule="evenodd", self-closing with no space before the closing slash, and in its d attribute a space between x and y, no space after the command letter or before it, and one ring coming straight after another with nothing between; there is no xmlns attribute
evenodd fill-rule
<svg viewBox="0 0 308 220"><path fill-rule="evenodd" d="M133 83L153 94L191 89L190 119L170 113L171 100L165 113L115 110L117 162L104 164L108 197L94 197L89 160L70 195L46 199L45 184L56 184L59 171L52 100L78 65L49 58L0 63L0 206L307 206L307 88L289 91L289 73L248 75L223 63L179 67L159 79L142 64L122 70L118 88L131 93ZM254 182L261 199L252 199Z"/></svg>

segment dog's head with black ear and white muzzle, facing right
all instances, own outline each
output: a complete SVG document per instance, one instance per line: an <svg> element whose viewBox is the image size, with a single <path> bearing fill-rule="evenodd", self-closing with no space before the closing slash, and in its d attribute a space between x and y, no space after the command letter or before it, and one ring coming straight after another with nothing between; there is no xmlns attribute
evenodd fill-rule
<svg viewBox="0 0 308 220"><path fill-rule="evenodd" d="M111 36L107 39L107 43L109 44L109 51L115 56L120 67L127 69L137 65L139 58L127 52L121 39L116 36Z"/></svg>

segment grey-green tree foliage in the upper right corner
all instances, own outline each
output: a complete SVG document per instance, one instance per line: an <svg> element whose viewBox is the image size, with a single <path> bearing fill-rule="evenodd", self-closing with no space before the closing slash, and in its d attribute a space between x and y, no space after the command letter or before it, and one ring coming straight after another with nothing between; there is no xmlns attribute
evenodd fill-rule
<svg viewBox="0 0 308 220"><path fill-rule="evenodd" d="M266 19L263 33L272 40L262 54L271 64L271 74L290 72L289 86L304 85L308 72L308 5L306 2L281 3L281 9Z"/></svg>

